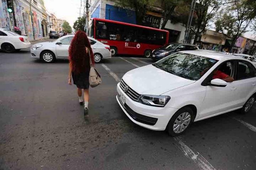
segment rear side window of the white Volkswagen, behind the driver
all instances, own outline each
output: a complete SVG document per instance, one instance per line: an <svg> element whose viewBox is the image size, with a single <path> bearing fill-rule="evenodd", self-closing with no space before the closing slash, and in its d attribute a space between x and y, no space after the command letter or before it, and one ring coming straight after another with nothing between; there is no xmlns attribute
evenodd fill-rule
<svg viewBox="0 0 256 170"><path fill-rule="evenodd" d="M255 75L255 67L251 63L242 60L238 61L236 80L255 77Z"/></svg>

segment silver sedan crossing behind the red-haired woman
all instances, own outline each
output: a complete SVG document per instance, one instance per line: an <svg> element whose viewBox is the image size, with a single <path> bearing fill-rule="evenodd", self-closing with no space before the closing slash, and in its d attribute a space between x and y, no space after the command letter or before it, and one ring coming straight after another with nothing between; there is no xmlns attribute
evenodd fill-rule
<svg viewBox="0 0 256 170"><path fill-rule="evenodd" d="M30 49L31 57L41 59L50 63L58 59L68 59L68 49L74 35L65 35L53 42L39 42ZM101 62L102 59L110 59L110 46L102 44L94 38L88 37L92 51L94 52L95 63Z"/></svg>

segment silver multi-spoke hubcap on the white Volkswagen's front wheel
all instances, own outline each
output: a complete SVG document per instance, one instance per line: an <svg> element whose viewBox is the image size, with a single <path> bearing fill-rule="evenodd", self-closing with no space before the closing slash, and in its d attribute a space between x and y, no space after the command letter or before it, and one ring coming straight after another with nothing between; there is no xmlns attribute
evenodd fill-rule
<svg viewBox="0 0 256 170"><path fill-rule="evenodd" d="M177 117L177 119L174 121L173 131L176 134L183 132L190 124L190 121L191 121L190 113L188 113L188 112L181 113Z"/></svg>

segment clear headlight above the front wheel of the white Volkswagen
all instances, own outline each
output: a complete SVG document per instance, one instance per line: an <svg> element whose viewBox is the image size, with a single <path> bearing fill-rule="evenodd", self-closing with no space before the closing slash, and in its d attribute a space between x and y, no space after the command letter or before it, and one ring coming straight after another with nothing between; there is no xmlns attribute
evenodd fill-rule
<svg viewBox="0 0 256 170"><path fill-rule="evenodd" d="M139 102L149 106L164 107L170 99L170 96L141 95Z"/></svg>

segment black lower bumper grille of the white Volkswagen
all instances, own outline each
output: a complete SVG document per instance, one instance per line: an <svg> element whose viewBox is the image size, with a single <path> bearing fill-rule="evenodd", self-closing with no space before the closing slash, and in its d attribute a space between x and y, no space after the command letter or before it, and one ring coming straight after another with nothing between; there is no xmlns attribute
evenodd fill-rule
<svg viewBox="0 0 256 170"><path fill-rule="evenodd" d="M118 95L118 100L120 101L119 97L120 96ZM120 103L122 104L121 101ZM126 112L129 114L129 116L132 117L135 121L138 121L140 123L147 124L147 125L152 125L152 126L155 125L156 122L158 121L158 118L152 118L152 117L148 117L148 116L134 112L126 103L124 103L124 105L122 104L122 106L124 107Z"/></svg>

